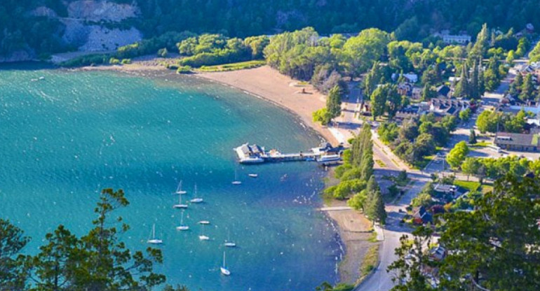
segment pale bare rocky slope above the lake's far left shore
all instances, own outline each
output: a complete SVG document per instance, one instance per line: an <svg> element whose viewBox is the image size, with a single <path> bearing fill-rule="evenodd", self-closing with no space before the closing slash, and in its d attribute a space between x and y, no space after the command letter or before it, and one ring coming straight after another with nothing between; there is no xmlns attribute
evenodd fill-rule
<svg viewBox="0 0 540 291"><path fill-rule="evenodd" d="M51 52L104 51L116 50L121 45L140 41L142 33L128 23L140 15L140 8L135 3L78 0L62 1L56 7L37 6L26 13L25 18L37 21L36 25L43 24L51 28L52 39L40 43L38 50L54 42ZM20 48L11 51L8 49L3 52L0 48L0 62L35 59L38 56L36 47L29 43L21 43Z"/></svg>

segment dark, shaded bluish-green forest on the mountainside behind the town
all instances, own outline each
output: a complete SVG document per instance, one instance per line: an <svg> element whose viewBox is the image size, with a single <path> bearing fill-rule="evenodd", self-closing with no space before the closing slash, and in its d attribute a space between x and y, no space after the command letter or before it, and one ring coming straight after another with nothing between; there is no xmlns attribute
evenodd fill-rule
<svg viewBox="0 0 540 291"><path fill-rule="evenodd" d="M275 34L311 26L320 34L358 33L367 27L395 31L396 38L419 41L440 29L475 35L483 23L516 31L532 22L540 27L536 0L110 0L137 3L140 17L124 20L146 38L167 31L222 33L231 37ZM67 16L73 0L3 0L0 6L0 55L17 50L46 55L73 49L62 41L58 19L32 16L39 6Z"/></svg>

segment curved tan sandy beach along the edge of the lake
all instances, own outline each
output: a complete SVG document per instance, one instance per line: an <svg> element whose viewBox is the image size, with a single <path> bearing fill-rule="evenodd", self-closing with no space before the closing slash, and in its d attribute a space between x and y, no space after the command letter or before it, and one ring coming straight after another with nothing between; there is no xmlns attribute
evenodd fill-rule
<svg viewBox="0 0 540 291"><path fill-rule="evenodd" d="M122 66L87 66L76 70L120 71L135 76L149 76L151 74L157 78L172 75L177 76L174 71L170 71L164 67L138 63ZM163 73L163 75L158 76L156 74L158 72ZM269 68L269 66L240 71L195 73L190 77L232 87L252 97L267 101L292 114L302 127L306 130L313 131L320 137L321 141L328 141L333 145L337 145L338 143L328 128L316 124L311 117L313 111L325 106L325 96L316 91L311 85L304 87L308 94L299 94L301 89L291 85L297 81L281 75L281 73ZM336 266L339 282L355 284L360 276L358 264L364 257L365 251L367 251L365 243L367 243L369 236L358 229L363 229L366 227L365 225L369 227L369 222L365 224L364 221L367 220L365 220L363 215L352 209L339 212L323 211L323 214L332 221L332 227L335 228L338 236L337 239L339 239L339 246L342 248L341 260L337 262ZM354 226L351 225L353 220L356 222Z"/></svg>

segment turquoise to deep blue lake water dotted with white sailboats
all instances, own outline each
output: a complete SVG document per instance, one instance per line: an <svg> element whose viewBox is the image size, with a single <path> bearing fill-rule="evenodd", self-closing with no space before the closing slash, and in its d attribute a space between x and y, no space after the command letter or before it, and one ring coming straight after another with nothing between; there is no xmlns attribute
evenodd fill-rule
<svg viewBox="0 0 540 291"><path fill-rule="evenodd" d="M43 80L34 80L43 77ZM189 76L0 67L0 217L32 237L35 253L59 224L88 232L97 193L121 188L122 239L144 249L156 224L168 283L191 290L313 290L337 281L335 229L320 206L323 171L292 162L239 166L249 141L282 151L320 143L292 115L238 90ZM243 185L231 185L234 171ZM259 178L249 178L258 173ZM282 177L286 174L287 178ZM183 180L204 204L178 232L171 194ZM198 220L210 220L199 241ZM230 277L220 275L223 242Z"/></svg>

